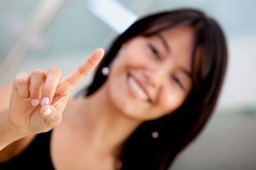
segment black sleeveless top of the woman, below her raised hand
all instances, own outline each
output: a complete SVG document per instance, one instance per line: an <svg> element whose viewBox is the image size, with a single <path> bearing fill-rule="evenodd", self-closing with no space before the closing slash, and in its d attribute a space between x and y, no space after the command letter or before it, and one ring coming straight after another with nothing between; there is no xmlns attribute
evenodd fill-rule
<svg viewBox="0 0 256 170"><path fill-rule="evenodd" d="M36 135L30 145L19 155L0 163L0 169L54 169L49 151L50 139L51 130Z"/></svg>

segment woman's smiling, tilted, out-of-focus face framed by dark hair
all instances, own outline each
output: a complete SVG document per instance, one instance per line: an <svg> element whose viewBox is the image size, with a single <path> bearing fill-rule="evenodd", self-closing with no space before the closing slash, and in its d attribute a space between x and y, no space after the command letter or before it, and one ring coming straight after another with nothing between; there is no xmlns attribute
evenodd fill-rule
<svg viewBox="0 0 256 170"><path fill-rule="evenodd" d="M110 102L141 121L180 107L192 88L192 32L191 27L176 27L125 42L106 82Z"/></svg>

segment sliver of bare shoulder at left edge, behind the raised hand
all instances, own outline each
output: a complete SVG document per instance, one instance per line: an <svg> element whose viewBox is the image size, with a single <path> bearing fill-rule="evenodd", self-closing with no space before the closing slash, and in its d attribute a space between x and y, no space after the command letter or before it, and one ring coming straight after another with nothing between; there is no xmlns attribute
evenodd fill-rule
<svg viewBox="0 0 256 170"><path fill-rule="evenodd" d="M9 106L11 90L11 84L0 86L0 110L5 109Z"/></svg>

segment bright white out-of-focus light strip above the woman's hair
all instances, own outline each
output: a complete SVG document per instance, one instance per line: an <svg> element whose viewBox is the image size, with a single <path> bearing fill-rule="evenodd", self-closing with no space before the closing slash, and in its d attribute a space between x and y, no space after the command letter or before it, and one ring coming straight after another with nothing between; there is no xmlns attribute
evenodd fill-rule
<svg viewBox="0 0 256 170"><path fill-rule="evenodd" d="M138 16L114 0L90 0L90 11L118 33L127 29Z"/></svg>

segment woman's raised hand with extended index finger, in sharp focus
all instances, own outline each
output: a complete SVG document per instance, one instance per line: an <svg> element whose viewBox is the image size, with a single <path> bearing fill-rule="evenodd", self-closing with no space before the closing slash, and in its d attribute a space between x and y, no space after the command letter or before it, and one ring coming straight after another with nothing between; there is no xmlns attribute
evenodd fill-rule
<svg viewBox="0 0 256 170"><path fill-rule="evenodd" d="M8 115L11 125L27 135L43 133L59 125L69 95L103 56L103 49L95 50L63 79L56 67L47 73L40 69L30 74L19 73L13 81L10 99Z"/></svg>

